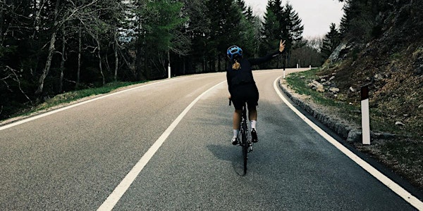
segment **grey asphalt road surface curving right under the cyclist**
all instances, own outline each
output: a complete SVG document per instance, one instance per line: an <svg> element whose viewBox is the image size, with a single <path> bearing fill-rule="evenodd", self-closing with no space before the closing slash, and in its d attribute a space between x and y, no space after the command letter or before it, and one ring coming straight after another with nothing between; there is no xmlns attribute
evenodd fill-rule
<svg viewBox="0 0 423 211"><path fill-rule="evenodd" d="M281 101L281 70L254 74L246 175L225 73L192 75L0 127L0 210L97 210L160 139L114 210L415 210Z"/></svg>

